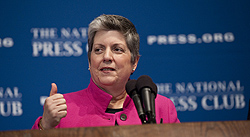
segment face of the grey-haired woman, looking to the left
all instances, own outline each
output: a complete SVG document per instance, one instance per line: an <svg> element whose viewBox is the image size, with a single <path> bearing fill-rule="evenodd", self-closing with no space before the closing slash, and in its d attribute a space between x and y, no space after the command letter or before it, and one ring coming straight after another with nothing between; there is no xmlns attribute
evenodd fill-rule
<svg viewBox="0 0 250 137"><path fill-rule="evenodd" d="M118 31L98 31L94 37L90 56L90 73L94 82L106 86L125 88L130 74L136 68L131 64L131 53L124 36Z"/></svg>

